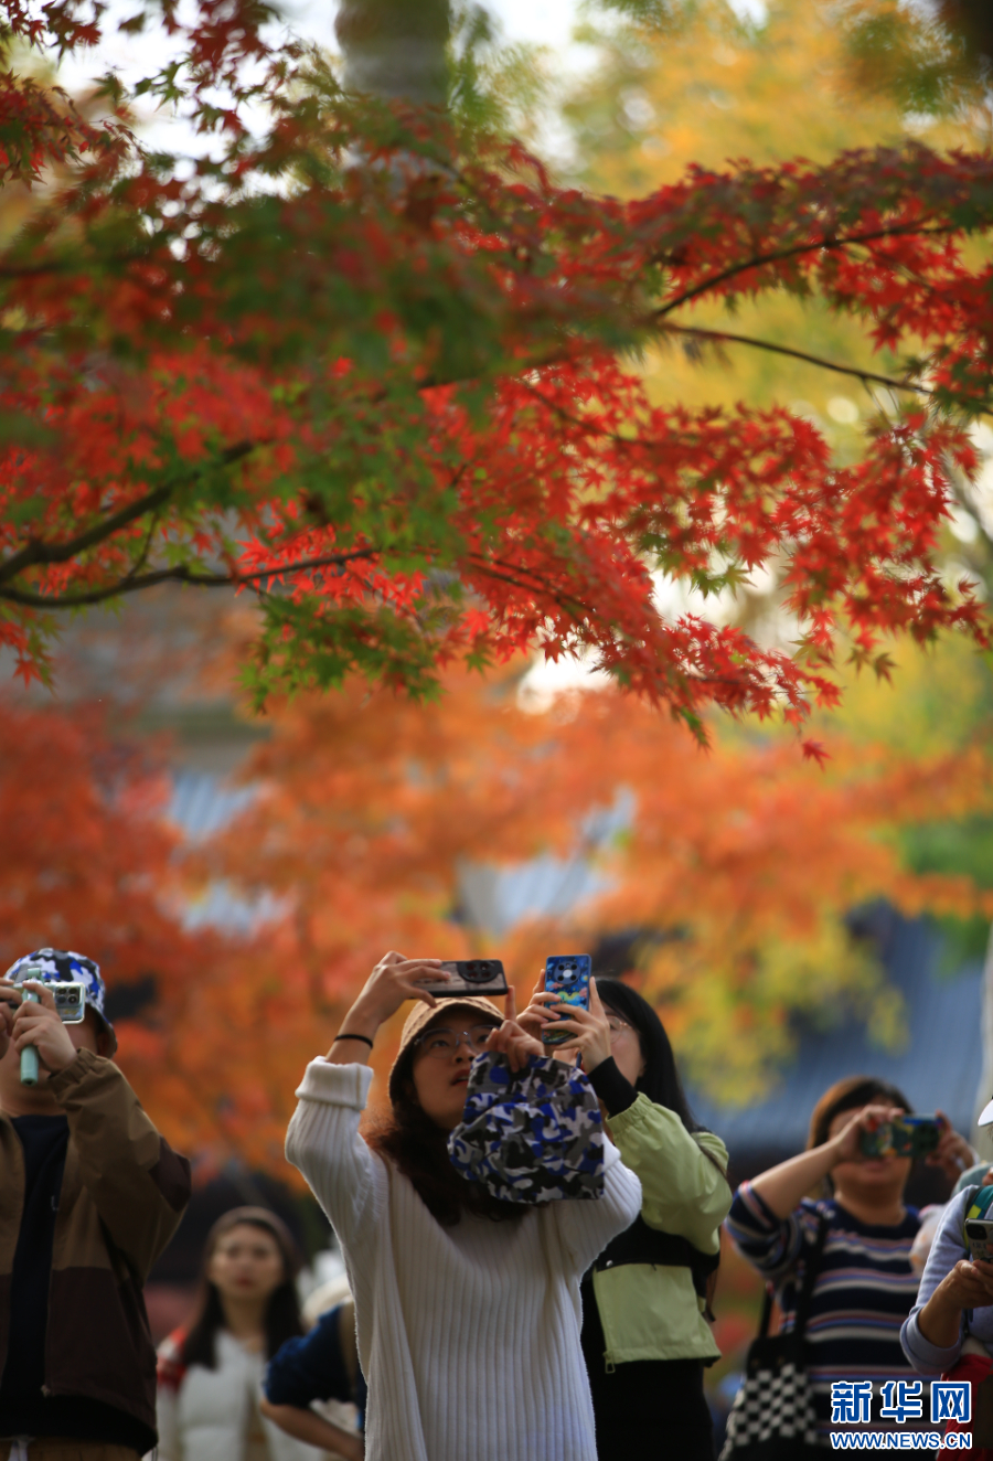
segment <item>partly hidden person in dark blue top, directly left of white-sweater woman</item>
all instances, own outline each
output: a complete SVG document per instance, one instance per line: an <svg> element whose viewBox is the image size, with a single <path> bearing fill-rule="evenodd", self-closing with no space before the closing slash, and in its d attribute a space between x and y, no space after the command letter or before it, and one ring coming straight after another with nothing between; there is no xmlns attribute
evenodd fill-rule
<svg viewBox="0 0 993 1461"><path fill-rule="evenodd" d="M298 1441L362 1461L367 1389L345 1275L308 1296L304 1322L308 1332L286 1340L269 1362L261 1413Z"/></svg>

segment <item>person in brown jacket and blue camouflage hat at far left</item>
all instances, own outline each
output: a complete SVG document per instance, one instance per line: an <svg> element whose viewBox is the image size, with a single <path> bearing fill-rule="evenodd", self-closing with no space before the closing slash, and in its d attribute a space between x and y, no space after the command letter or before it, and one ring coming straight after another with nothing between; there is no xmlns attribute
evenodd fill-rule
<svg viewBox="0 0 993 1461"><path fill-rule="evenodd" d="M82 985L80 1024L63 1024L53 982ZM137 1461L156 1442L142 1290L190 1199L190 1163L114 1065L104 996L98 966L55 948L0 980L3 1461ZM28 1048L35 1086L20 1080Z"/></svg>

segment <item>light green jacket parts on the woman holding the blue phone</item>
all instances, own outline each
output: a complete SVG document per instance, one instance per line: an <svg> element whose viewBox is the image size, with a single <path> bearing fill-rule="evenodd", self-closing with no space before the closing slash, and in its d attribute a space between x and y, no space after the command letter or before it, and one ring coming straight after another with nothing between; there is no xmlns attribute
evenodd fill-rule
<svg viewBox="0 0 993 1461"><path fill-rule="evenodd" d="M641 1216L648 1227L688 1237L701 1254L716 1254L732 1189L704 1153L726 1170L727 1148L720 1137L708 1131L691 1137L675 1112L643 1094L610 1118L610 1135L641 1180ZM593 1292L607 1370L628 1360L720 1359L689 1268L619 1264L594 1271Z"/></svg>

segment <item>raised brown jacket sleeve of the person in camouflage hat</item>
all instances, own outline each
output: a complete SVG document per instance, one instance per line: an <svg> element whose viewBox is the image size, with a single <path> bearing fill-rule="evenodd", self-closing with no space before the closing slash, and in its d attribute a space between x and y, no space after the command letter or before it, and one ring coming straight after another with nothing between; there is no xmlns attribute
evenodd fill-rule
<svg viewBox="0 0 993 1461"><path fill-rule="evenodd" d="M158 1134L112 1061L79 1050L48 1088L69 1118L83 1185L143 1281L190 1201L190 1163Z"/></svg>

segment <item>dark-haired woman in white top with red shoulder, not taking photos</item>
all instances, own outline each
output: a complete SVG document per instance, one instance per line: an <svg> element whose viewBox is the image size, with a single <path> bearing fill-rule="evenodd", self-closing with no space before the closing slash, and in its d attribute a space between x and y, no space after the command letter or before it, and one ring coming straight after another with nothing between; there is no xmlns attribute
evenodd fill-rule
<svg viewBox="0 0 993 1461"><path fill-rule="evenodd" d="M159 1461L318 1461L261 1413L266 1360L302 1334L298 1268L275 1213L237 1207L213 1224L196 1315L159 1347Z"/></svg>

